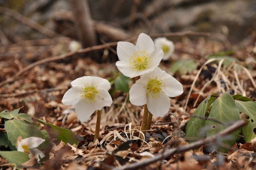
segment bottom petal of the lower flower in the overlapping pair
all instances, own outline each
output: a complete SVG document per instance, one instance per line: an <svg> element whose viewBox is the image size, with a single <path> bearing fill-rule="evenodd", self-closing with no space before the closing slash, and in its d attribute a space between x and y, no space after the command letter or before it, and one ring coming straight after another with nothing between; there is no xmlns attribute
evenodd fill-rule
<svg viewBox="0 0 256 170"><path fill-rule="evenodd" d="M167 114L170 109L170 98L166 95L161 95L157 98L149 97L147 104L151 114L162 117Z"/></svg>

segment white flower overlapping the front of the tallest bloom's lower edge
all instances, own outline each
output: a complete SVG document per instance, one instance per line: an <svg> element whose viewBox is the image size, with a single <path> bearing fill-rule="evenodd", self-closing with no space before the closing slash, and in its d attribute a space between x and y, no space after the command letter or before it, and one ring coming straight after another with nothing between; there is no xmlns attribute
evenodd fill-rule
<svg viewBox="0 0 256 170"><path fill-rule="evenodd" d="M168 113L170 98L183 93L182 84L157 67L153 72L143 74L130 89L130 102L136 106L148 105L154 116Z"/></svg>

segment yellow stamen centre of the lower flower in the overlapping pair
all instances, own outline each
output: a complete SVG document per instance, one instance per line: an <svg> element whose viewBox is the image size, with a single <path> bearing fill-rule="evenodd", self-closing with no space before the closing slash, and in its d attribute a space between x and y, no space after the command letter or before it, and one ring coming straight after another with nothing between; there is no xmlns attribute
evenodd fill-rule
<svg viewBox="0 0 256 170"><path fill-rule="evenodd" d="M159 97L160 94L164 93L162 89L166 88L164 82L161 79L156 78L148 78L146 89L147 95L152 96L152 98Z"/></svg>

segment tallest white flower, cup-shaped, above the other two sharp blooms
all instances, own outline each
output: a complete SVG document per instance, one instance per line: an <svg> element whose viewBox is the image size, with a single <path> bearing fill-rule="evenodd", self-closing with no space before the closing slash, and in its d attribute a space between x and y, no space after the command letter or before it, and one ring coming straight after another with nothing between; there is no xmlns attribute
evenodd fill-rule
<svg viewBox="0 0 256 170"><path fill-rule="evenodd" d="M135 46L130 42L118 42L117 55L120 60L116 62L118 70L133 78L152 72L159 65L164 52L155 48L150 36L141 33Z"/></svg>

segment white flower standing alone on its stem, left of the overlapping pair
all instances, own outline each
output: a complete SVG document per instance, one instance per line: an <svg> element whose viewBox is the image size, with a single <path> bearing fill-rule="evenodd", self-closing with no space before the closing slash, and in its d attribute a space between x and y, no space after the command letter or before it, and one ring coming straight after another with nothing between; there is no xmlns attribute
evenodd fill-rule
<svg viewBox="0 0 256 170"><path fill-rule="evenodd" d="M86 122L95 110L112 104L108 93L110 82L100 77L84 76L71 82L70 88L63 96L64 105L75 105L78 119Z"/></svg>

